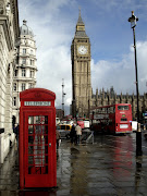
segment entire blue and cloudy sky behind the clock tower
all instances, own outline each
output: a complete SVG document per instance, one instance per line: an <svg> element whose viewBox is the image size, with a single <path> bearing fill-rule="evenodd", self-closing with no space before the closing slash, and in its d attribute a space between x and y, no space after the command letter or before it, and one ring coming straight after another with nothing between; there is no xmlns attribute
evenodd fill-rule
<svg viewBox="0 0 147 196"><path fill-rule="evenodd" d="M114 87L117 94L136 94L133 30L127 22L134 10L139 94L147 91L147 0L17 0L20 26L23 20L35 34L37 87L56 93L65 108L72 101L71 44L78 8L91 44L93 91ZM69 110L65 111L69 114Z"/></svg>

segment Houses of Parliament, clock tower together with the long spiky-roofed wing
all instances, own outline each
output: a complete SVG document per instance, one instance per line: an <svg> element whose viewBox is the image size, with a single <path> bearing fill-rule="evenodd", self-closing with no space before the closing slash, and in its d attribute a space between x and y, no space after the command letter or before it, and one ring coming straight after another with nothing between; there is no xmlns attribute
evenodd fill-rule
<svg viewBox="0 0 147 196"><path fill-rule="evenodd" d="M90 40L85 32L85 24L81 11L75 28L75 35L71 45L72 61L72 106L73 117L89 117L90 108L114 103L131 103L133 120L137 117L136 95L117 95L113 87L110 90L103 88L93 93L90 73ZM147 94L139 95L139 115L147 111Z"/></svg>

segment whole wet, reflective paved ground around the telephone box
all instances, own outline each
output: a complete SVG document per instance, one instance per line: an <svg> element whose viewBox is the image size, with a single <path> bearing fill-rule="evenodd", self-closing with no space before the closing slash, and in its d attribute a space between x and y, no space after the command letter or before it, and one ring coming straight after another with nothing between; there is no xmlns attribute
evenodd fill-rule
<svg viewBox="0 0 147 196"><path fill-rule="evenodd" d="M63 140L57 156L57 188L19 189L16 145L0 166L0 196L147 195L147 155L136 158L135 133L95 136L94 144Z"/></svg>

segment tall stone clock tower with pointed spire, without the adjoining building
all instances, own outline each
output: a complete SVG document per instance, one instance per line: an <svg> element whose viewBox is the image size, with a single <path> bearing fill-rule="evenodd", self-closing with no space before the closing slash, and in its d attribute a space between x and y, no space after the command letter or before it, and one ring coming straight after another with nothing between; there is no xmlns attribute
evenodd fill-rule
<svg viewBox="0 0 147 196"><path fill-rule="evenodd" d="M91 100L90 84L90 41L85 32L81 11L76 24L75 36L71 46L72 59L72 114L89 115Z"/></svg>

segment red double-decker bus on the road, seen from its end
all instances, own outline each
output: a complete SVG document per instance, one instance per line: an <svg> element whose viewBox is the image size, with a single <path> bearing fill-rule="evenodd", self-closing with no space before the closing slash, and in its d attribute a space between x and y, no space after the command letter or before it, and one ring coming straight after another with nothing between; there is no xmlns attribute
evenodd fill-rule
<svg viewBox="0 0 147 196"><path fill-rule="evenodd" d="M90 110L91 130L113 134L132 133L132 106L118 103Z"/></svg>

